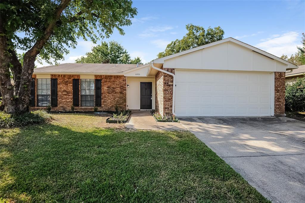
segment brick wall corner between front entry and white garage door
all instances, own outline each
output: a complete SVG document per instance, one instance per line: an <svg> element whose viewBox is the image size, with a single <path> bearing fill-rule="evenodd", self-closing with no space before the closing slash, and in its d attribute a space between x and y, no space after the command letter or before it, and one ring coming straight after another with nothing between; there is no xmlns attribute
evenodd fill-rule
<svg viewBox="0 0 305 203"><path fill-rule="evenodd" d="M174 68L162 68L174 73ZM167 73L158 72L156 74L156 111L161 115L172 115L173 107L173 77Z"/></svg>

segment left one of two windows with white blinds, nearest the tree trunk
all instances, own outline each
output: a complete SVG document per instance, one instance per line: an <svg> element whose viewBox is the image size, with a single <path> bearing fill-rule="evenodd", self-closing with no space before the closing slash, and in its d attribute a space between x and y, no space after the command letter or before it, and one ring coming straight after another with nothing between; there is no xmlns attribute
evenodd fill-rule
<svg viewBox="0 0 305 203"><path fill-rule="evenodd" d="M37 106L51 105L51 79L37 79Z"/></svg>

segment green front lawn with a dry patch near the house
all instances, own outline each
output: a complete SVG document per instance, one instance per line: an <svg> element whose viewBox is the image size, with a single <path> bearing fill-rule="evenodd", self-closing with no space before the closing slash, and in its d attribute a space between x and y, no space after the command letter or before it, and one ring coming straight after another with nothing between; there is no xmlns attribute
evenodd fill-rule
<svg viewBox="0 0 305 203"><path fill-rule="evenodd" d="M0 130L0 202L268 202L189 132L54 117Z"/></svg>

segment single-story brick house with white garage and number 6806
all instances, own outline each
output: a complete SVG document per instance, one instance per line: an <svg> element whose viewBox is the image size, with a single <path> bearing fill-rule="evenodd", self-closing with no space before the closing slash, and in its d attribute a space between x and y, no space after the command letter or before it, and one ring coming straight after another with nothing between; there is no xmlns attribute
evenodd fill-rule
<svg viewBox="0 0 305 203"><path fill-rule="evenodd" d="M226 38L146 65L66 63L34 69L30 109L156 109L177 116L274 116L297 66Z"/></svg>

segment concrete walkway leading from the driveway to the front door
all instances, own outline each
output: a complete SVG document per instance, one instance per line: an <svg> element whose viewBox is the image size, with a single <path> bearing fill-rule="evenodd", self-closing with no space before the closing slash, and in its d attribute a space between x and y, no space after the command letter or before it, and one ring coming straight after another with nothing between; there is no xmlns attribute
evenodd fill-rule
<svg viewBox="0 0 305 203"><path fill-rule="evenodd" d="M132 110L132 114L125 124L127 128L142 130L186 130L181 123L156 122L150 111Z"/></svg>

